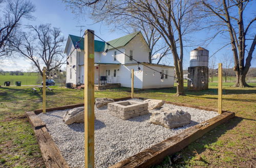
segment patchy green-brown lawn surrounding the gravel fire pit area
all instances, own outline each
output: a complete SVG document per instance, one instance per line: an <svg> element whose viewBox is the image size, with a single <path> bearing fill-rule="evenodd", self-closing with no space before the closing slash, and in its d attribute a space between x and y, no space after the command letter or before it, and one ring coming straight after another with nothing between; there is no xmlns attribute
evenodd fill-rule
<svg viewBox="0 0 256 168"><path fill-rule="evenodd" d="M256 83L249 83L256 87ZM175 166L250 167L255 166L256 89L234 88L224 83L223 108L236 112L236 117L206 133L181 152ZM25 118L25 111L41 108L41 94L32 94L31 87L0 88L0 167L44 167L34 132ZM47 107L83 102L83 91L54 86L47 94ZM130 89L96 91L95 97L130 96ZM135 96L217 108L217 83L209 90L187 91L175 97L176 88L136 90ZM171 157L171 156L170 156ZM170 167L169 158L155 167Z"/></svg>

